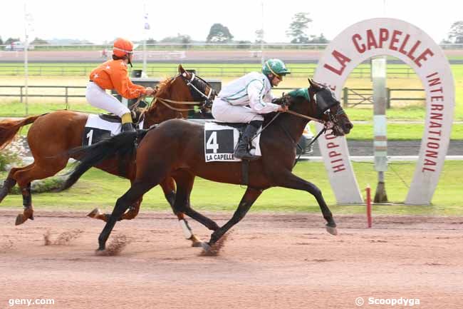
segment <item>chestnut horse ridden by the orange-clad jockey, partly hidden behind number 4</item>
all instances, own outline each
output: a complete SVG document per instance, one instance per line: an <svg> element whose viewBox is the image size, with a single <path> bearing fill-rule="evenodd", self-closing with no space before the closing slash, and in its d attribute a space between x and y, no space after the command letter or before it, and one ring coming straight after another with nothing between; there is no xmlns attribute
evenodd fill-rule
<svg viewBox="0 0 463 309"><path fill-rule="evenodd" d="M202 78L184 71L179 66L179 75L162 81L157 88L152 105L145 112L144 128L161 123L171 118L186 118L187 112L192 110L192 104L202 104L213 100L216 95L214 89ZM202 101L202 102L199 102ZM190 104L190 105L188 105ZM82 144L82 136L88 114L76 111L55 111L38 116L30 116L20 120L6 120L0 122L0 148L6 146L19 131L19 128L33 123L28 131L27 140L34 161L28 166L11 168L4 186L0 190L0 202L17 183L23 195L24 213L16 218L16 225L24 223L28 218L33 219L33 206L31 202L31 181L56 175L66 167L68 163L68 151ZM58 156L57 156L58 154ZM73 157L76 158L76 157ZM125 166L120 168L121 161L112 158L98 164L98 168L117 176L123 176L130 180L135 178L135 165L123 162ZM165 197L173 207L175 201L175 183L167 177L160 183ZM121 219L132 219L137 216L141 198L134 201L130 211ZM193 242L197 238L191 233L191 229L184 220L183 213L175 212L181 221L182 228L187 238ZM98 208L90 216L107 220L109 216L100 213Z"/></svg>

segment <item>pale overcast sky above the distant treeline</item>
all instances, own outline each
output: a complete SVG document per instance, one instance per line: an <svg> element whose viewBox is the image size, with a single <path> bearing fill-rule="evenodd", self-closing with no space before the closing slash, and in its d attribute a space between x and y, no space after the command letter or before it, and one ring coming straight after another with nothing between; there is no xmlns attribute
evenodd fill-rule
<svg viewBox="0 0 463 309"><path fill-rule="evenodd" d="M159 41L187 34L205 40L214 23L227 26L235 40L256 39L262 26L264 40L288 42L286 30L298 12L313 19L307 33L333 39L340 31L364 19L392 17L418 26L437 43L447 38L454 21L463 20L459 1L439 0L125 0L125 1L8 1L0 18L0 36L24 39L24 3L33 17L30 37L87 39L93 43L123 36L133 41L146 35ZM144 33L144 7L151 29Z"/></svg>

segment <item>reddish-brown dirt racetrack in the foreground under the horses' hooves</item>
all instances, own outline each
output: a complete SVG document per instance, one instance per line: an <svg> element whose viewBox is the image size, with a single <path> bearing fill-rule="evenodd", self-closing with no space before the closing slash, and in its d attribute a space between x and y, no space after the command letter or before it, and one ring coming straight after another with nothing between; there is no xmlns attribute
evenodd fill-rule
<svg viewBox="0 0 463 309"><path fill-rule="evenodd" d="M15 227L18 212L0 211L0 308L411 307L369 298L463 308L463 218L377 216L366 229L363 216L335 216L333 236L318 214L251 213L218 256L204 257L174 216L145 212L115 227L108 243L129 240L119 255L96 256L102 221L37 209L35 221ZM209 215L220 225L231 213ZM11 306L11 299L54 305Z"/></svg>

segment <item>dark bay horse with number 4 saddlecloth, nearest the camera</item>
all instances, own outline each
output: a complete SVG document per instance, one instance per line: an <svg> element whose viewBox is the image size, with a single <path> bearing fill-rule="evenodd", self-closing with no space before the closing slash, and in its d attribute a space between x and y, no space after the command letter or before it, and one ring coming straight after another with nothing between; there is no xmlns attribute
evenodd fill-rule
<svg viewBox="0 0 463 309"><path fill-rule="evenodd" d="M331 128L331 134L335 136L349 133L353 125L339 101L335 99L333 91L311 80L309 82L310 87L304 91L291 92L281 98L281 101L288 101L289 112L279 114L279 117L274 118L274 121L261 132L262 157L249 163L249 186L234 216L222 227L217 226L209 218L204 220L204 216L198 216L190 207L189 196L194 178L200 176L211 181L240 184L241 163L206 163L202 125L172 119L152 130L122 133L106 141L95 143L93 146L80 148L80 154L83 157L63 189L72 186L85 171L102 158L113 156L115 153L113 149L131 149L134 147L135 138L142 138L136 153L135 179L130 189L118 198L113 213L98 238L98 250L105 250L105 243L116 221L127 208L168 176L174 178L177 183L175 211L187 214L214 231L209 243L203 243L205 250L208 250L210 245L216 243L229 228L244 218L262 191L274 186L311 193L321 208L323 218L327 221L327 231L336 235L333 215L320 189L291 172L296 158L295 145L303 133L308 118L323 121L328 128ZM269 123L269 117L266 117L266 121Z"/></svg>

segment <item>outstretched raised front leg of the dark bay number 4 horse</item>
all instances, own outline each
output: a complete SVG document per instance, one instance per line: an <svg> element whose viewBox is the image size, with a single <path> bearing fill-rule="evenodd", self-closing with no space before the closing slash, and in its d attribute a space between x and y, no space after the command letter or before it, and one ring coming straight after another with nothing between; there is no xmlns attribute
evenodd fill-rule
<svg viewBox="0 0 463 309"><path fill-rule="evenodd" d="M303 180L302 178L299 178L298 176L291 173L291 171L286 171L285 173L279 174L277 177L275 177L275 179L277 186L307 191L308 193L311 193L316 198L318 206L320 206L321 213L323 214L323 218L326 220L326 231L333 235L338 234L336 223L333 219L333 214L328 208L328 205L326 205L325 199L321 194L321 190L317 186L315 186L313 183Z"/></svg>

